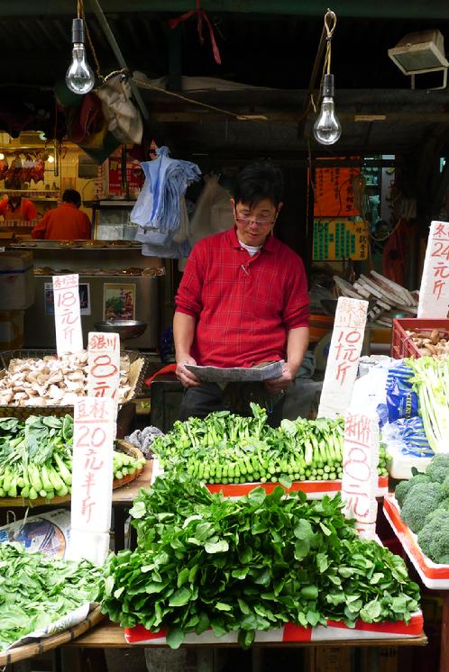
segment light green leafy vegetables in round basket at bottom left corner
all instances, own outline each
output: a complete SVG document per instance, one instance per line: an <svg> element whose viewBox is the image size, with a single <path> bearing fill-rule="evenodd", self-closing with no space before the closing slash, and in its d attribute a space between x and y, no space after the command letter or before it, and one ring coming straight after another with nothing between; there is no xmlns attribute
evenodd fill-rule
<svg viewBox="0 0 449 672"><path fill-rule="evenodd" d="M81 604L94 602L101 569L0 544L0 650L44 628Z"/></svg>

